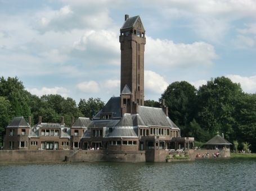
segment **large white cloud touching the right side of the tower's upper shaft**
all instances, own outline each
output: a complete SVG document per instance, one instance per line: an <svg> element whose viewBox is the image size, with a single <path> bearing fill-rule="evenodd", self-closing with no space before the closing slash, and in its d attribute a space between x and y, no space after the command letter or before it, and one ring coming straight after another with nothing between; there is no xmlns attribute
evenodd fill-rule
<svg viewBox="0 0 256 191"><path fill-rule="evenodd" d="M212 59L217 59L214 46L205 42L193 44L175 44L172 40L147 38L145 63L170 67L210 66Z"/></svg>

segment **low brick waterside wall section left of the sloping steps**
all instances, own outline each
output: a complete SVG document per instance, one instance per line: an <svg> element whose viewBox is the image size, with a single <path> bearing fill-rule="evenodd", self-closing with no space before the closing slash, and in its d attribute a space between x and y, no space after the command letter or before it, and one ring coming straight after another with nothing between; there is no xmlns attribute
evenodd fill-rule
<svg viewBox="0 0 256 191"><path fill-rule="evenodd" d="M72 151L0 151L0 164L26 163L26 162L61 162L66 155L71 155Z"/></svg>

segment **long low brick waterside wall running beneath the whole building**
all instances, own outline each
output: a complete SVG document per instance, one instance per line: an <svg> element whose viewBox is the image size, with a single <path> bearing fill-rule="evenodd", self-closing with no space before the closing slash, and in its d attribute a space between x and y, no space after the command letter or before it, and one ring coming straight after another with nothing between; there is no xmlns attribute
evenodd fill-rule
<svg viewBox="0 0 256 191"><path fill-rule="evenodd" d="M106 151L106 150L2 150L0 164L31 162L165 162L169 151ZM190 160L194 151L188 152ZM179 153L179 152L177 152Z"/></svg>

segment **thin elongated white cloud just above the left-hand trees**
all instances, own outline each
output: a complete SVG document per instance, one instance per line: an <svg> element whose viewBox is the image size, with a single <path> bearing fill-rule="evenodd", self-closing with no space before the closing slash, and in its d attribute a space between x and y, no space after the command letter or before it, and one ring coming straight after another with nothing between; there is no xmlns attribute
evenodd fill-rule
<svg viewBox="0 0 256 191"><path fill-rule="evenodd" d="M37 95L38 97L41 97L42 95L50 95L50 94L59 94L62 97L68 97L70 94L70 91L67 90L64 87L54 87L54 88L47 88L42 87L41 90L38 90L37 88L26 88L27 91L29 91L31 94Z"/></svg>

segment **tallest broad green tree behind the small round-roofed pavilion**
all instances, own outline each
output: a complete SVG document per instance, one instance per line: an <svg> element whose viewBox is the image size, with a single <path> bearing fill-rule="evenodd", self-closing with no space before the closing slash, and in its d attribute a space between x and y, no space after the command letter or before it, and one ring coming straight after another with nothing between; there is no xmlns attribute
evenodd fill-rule
<svg viewBox="0 0 256 191"><path fill-rule="evenodd" d="M197 122L211 134L224 132L227 138L235 138L236 104L242 95L240 83L226 77L211 78L197 91Z"/></svg>

